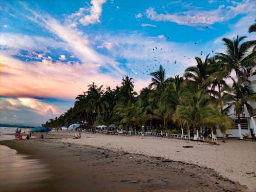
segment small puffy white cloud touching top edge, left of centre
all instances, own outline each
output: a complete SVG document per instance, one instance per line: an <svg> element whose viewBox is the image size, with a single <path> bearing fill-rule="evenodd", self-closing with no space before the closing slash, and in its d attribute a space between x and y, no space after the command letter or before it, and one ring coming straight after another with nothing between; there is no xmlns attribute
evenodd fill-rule
<svg viewBox="0 0 256 192"><path fill-rule="evenodd" d="M90 8L90 15L86 15L79 19L79 22L83 26L87 26L89 24L100 23L99 17L102 12L102 5L106 2L106 0L92 0L92 7Z"/></svg>

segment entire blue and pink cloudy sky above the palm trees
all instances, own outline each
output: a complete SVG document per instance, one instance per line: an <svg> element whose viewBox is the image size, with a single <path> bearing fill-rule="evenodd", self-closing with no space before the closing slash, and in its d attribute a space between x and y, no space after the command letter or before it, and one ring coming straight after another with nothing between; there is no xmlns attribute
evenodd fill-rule
<svg viewBox="0 0 256 192"><path fill-rule="evenodd" d="M0 123L38 126L88 85L146 87L159 65L183 75L195 57L247 36L256 1L0 1ZM213 52L212 52L213 51Z"/></svg>

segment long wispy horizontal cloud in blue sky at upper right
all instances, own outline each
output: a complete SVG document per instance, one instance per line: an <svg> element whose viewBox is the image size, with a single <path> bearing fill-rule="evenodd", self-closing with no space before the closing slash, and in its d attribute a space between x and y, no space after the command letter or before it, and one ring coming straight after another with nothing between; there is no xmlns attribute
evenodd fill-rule
<svg viewBox="0 0 256 192"><path fill-rule="evenodd" d="M146 10L147 18L154 21L175 22L180 25L204 26L229 20L238 14L253 12L256 6L252 1L243 0L241 3L232 1L232 6L220 5L214 10L189 10L174 14L158 14L154 8Z"/></svg>

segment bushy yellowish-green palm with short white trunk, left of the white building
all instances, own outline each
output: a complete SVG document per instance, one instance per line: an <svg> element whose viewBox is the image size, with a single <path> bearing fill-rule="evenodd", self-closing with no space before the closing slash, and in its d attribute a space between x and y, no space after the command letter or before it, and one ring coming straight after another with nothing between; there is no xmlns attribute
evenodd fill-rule
<svg viewBox="0 0 256 192"><path fill-rule="evenodd" d="M194 131L194 139L197 139L198 127L214 121L214 108L209 102L209 95L203 94L203 91L184 93L184 104L178 105L174 121L179 121L180 125L192 127Z"/></svg>

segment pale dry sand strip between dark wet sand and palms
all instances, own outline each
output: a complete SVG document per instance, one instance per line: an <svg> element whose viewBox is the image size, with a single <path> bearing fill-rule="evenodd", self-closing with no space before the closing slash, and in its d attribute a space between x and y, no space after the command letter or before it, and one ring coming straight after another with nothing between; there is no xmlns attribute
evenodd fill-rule
<svg viewBox="0 0 256 192"><path fill-rule="evenodd" d="M197 164L256 191L256 143L250 140L228 139L219 145L190 142L194 147L184 148L182 146L188 143L175 139L83 134L81 139L62 139L62 142Z"/></svg>

